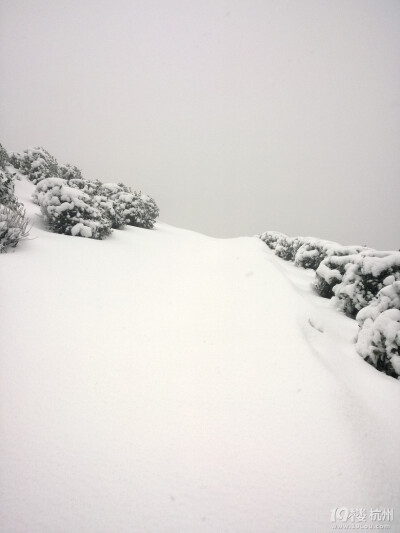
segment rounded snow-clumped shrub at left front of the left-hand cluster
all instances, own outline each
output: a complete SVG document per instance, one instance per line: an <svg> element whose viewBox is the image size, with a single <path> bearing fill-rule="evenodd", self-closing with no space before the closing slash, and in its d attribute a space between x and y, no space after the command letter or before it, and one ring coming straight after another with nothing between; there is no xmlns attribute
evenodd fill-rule
<svg viewBox="0 0 400 533"><path fill-rule="evenodd" d="M61 178L47 178L38 184L37 202L45 222L55 233L103 239L111 233L111 223L93 205L91 197L70 187Z"/></svg>

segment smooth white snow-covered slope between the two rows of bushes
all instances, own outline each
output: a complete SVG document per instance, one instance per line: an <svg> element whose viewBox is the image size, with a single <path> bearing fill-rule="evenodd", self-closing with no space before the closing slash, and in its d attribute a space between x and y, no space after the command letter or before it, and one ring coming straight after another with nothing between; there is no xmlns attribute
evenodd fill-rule
<svg viewBox="0 0 400 533"><path fill-rule="evenodd" d="M17 189L34 240L0 258L2 533L320 533L340 507L400 530L399 383L307 271L161 223L51 234Z"/></svg>

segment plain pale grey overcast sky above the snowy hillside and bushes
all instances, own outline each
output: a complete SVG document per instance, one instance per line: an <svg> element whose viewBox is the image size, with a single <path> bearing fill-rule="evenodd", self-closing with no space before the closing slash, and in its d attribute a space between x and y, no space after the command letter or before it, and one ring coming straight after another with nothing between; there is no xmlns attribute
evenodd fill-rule
<svg viewBox="0 0 400 533"><path fill-rule="evenodd" d="M161 220L400 247L399 0L1 0L0 142Z"/></svg>

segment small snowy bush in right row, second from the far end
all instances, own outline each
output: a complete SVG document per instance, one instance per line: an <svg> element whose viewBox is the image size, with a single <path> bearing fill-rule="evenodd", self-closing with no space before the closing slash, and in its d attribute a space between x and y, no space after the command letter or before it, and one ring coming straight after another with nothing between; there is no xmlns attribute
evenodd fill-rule
<svg viewBox="0 0 400 533"><path fill-rule="evenodd" d="M294 264L317 270L326 257L356 254L362 250L362 246L342 246L336 242L307 237L296 252Z"/></svg>

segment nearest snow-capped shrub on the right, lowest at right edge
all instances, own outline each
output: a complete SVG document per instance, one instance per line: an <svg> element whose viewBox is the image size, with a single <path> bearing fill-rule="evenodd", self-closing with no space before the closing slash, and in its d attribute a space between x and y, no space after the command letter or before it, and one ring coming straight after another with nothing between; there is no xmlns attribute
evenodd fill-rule
<svg viewBox="0 0 400 533"><path fill-rule="evenodd" d="M356 349L378 370L400 376L400 282L381 289L357 314L360 326Z"/></svg>

